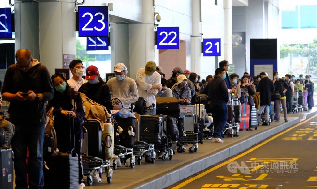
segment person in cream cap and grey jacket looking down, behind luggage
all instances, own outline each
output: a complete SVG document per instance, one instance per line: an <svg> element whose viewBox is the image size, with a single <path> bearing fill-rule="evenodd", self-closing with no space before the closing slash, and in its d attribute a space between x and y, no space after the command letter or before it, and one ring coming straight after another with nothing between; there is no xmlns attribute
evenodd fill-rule
<svg viewBox="0 0 317 189"><path fill-rule="evenodd" d="M191 104L191 89L187 85L187 80L185 75L179 75L177 83L171 88L173 97L176 97L182 104Z"/></svg>

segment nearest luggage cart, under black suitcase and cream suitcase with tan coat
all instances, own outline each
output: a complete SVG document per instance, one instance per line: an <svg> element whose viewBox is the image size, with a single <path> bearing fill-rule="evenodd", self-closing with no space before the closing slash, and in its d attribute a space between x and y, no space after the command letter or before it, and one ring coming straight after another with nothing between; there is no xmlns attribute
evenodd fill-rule
<svg viewBox="0 0 317 189"><path fill-rule="evenodd" d="M87 134L87 129L83 126L84 133ZM88 135L86 135L87 137ZM98 170L100 178L102 177L102 168L105 168L106 176L107 176L107 182L110 184L112 182L112 175L113 170L110 167L110 161L109 160L102 160L99 157L89 156L88 155L88 140L86 140L86 155L81 156L82 160L82 167L83 167L83 173L84 173L84 180L87 182L88 186L91 186L93 184L93 177L92 174Z"/></svg>

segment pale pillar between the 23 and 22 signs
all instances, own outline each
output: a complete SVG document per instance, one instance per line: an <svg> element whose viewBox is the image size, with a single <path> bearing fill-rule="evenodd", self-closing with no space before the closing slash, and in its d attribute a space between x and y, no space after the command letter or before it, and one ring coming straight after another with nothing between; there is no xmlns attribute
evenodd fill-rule
<svg viewBox="0 0 317 189"><path fill-rule="evenodd" d="M147 61L155 61L154 6L143 2L143 23L129 24L130 77L135 79L139 68Z"/></svg>

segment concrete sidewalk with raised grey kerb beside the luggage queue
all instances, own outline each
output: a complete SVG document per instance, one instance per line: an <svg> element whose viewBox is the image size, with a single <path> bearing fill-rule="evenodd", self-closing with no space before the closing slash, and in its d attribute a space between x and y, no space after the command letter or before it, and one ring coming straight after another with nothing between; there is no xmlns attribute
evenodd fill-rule
<svg viewBox="0 0 317 189"><path fill-rule="evenodd" d="M238 154L258 142L278 133L282 130L299 123L316 114L317 108L298 114L288 114L288 122L285 123L281 114L280 123L271 123L270 126L259 126L255 131L240 131L239 137L225 137L224 143L204 140L199 144L197 153L189 154L188 147L182 154L174 154L172 160L156 160L154 164L145 163L137 165L132 169L118 167L113 171L113 180L107 184L105 173L102 182L93 183L86 188L165 188L194 173L202 171L230 156Z"/></svg>

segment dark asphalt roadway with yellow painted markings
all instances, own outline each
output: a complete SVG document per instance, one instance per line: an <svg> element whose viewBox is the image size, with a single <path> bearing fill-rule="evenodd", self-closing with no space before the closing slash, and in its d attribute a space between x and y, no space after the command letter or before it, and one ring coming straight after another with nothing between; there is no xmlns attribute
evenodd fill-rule
<svg viewBox="0 0 317 189"><path fill-rule="evenodd" d="M317 189L317 115L168 188Z"/></svg>

